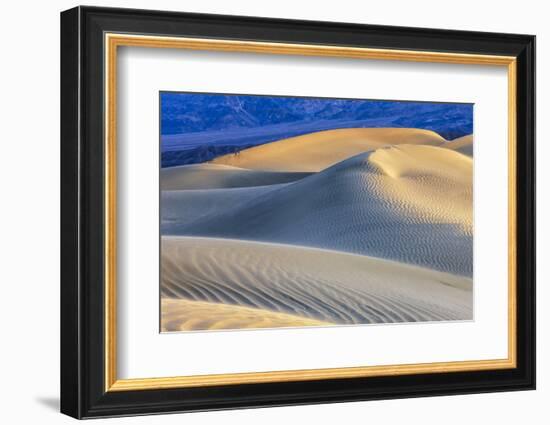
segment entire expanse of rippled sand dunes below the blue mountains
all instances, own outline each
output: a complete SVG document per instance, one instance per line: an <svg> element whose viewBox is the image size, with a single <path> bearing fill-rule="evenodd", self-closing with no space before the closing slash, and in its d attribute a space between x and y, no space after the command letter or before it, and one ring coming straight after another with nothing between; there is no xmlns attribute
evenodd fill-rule
<svg viewBox="0 0 550 425"><path fill-rule="evenodd" d="M471 319L468 143L331 130L163 170L163 329Z"/></svg>

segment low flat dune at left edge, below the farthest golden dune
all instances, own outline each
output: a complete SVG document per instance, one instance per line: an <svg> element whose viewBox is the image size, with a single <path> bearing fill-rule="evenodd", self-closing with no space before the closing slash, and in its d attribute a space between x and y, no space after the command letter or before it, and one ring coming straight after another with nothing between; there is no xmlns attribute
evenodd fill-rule
<svg viewBox="0 0 550 425"><path fill-rule="evenodd" d="M192 164L161 170L161 190L214 189L287 183L311 173L246 170L223 164Z"/></svg>

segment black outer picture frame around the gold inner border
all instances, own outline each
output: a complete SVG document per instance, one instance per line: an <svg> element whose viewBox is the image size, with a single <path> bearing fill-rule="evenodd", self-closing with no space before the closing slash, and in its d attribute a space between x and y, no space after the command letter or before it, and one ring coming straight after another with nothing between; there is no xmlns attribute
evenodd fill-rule
<svg viewBox="0 0 550 425"><path fill-rule="evenodd" d="M105 391L104 33L517 58L517 367ZM61 13L61 412L93 418L535 388L535 37L76 7ZM504 213L504 212L503 212Z"/></svg>

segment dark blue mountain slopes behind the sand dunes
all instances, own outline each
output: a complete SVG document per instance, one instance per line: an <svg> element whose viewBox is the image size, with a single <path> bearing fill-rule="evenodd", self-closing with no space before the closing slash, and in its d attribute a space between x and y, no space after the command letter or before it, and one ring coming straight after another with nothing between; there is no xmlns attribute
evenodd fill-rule
<svg viewBox="0 0 550 425"><path fill-rule="evenodd" d="M447 140L473 132L473 105L163 92L162 166L209 161L313 131L415 127Z"/></svg>

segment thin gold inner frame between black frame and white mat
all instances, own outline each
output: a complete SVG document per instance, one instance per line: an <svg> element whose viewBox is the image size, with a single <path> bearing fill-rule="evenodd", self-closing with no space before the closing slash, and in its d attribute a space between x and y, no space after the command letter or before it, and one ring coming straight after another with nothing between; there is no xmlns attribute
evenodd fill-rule
<svg viewBox="0 0 550 425"><path fill-rule="evenodd" d="M134 391L267 382L411 375L510 369L516 367L516 58L461 53L370 49L328 45L267 43L106 33L105 46L105 391ZM116 324L116 117L117 48L119 46L249 52L281 55L329 56L468 65L504 66L508 70L508 357L384 366L285 370L118 379Z"/></svg>

